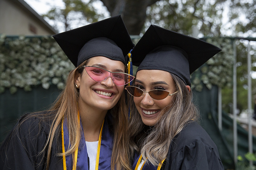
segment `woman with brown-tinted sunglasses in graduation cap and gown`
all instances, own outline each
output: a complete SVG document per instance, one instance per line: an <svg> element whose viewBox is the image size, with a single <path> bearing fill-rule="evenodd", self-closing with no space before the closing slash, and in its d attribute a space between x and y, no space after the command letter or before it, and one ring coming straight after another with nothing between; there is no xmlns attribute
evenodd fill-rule
<svg viewBox="0 0 256 170"><path fill-rule="evenodd" d="M131 54L134 170L224 170L215 143L197 123L190 74L221 49L154 25Z"/></svg>

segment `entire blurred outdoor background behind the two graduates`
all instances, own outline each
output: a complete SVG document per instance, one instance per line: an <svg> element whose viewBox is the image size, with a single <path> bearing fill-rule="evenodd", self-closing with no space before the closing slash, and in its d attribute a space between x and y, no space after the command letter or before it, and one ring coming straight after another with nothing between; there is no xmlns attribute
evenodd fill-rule
<svg viewBox="0 0 256 170"><path fill-rule="evenodd" d="M226 170L256 169L254 0L0 0L0 142L19 116L47 109L74 69L52 35L115 15L134 44L155 24L222 49L191 74L200 124Z"/></svg>

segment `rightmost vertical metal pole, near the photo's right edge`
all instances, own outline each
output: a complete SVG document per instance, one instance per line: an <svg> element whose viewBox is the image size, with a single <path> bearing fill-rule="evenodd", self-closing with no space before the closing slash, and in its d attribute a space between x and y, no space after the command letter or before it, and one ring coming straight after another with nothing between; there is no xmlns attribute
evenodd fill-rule
<svg viewBox="0 0 256 170"><path fill-rule="evenodd" d="M252 78L251 78L251 67L252 57L250 54L251 46L250 41L247 46L247 72L248 72L248 145L249 152L253 153L253 137L252 137ZM253 165L253 161L250 160L250 165Z"/></svg>

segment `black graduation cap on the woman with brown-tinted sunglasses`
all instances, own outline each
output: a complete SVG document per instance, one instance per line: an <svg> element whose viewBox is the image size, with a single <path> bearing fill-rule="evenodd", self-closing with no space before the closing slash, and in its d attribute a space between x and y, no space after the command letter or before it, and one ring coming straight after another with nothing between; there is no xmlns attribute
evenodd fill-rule
<svg viewBox="0 0 256 170"><path fill-rule="evenodd" d="M168 71L190 86L190 74L219 51L200 39L151 25L131 54L138 71Z"/></svg>

